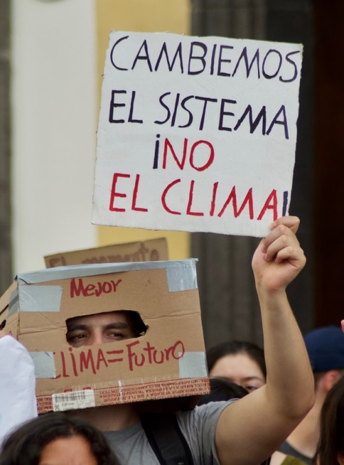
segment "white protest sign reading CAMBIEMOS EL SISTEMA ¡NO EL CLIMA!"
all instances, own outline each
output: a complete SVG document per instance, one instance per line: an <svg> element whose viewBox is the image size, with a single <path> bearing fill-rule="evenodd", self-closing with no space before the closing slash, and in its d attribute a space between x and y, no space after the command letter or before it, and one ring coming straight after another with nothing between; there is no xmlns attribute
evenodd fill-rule
<svg viewBox="0 0 344 465"><path fill-rule="evenodd" d="M92 223L265 236L288 214L302 45L111 32Z"/></svg>

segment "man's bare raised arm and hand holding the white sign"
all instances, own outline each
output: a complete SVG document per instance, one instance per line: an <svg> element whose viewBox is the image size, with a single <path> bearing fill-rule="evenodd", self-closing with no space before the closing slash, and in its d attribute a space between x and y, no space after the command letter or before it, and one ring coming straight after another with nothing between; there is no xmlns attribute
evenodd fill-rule
<svg viewBox="0 0 344 465"><path fill-rule="evenodd" d="M266 356L266 385L228 406L217 423L221 465L257 465L264 461L311 409L312 369L286 287L305 265L296 237L299 219L279 218L261 240L252 259L261 307Z"/></svg>

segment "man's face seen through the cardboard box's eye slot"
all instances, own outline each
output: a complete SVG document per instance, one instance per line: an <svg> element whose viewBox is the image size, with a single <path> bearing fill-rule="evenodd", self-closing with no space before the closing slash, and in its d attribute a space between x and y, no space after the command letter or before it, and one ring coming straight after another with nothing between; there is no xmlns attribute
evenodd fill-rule
<svg viewBox="0 0 344 465"><path fill-rule="evenodd" d="M135 334L122 311L76 316L67 320L66 339L72 347L96 346L131 338L135 338Z"/></svg>

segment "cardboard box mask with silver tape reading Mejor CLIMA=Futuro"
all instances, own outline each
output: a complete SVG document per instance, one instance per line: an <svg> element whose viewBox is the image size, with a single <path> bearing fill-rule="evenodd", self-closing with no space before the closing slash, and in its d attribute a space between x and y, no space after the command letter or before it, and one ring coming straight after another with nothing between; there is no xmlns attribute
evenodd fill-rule
<svg viewBox="0 0 344 465"><path fill-rule="evenodd" d="M5 329L34 360L39 413L208 393L195 260L56 267L15 284ZM116 310L138 311L147 333L67 343L67 319Z"/></svg>

